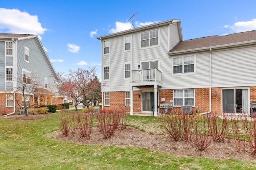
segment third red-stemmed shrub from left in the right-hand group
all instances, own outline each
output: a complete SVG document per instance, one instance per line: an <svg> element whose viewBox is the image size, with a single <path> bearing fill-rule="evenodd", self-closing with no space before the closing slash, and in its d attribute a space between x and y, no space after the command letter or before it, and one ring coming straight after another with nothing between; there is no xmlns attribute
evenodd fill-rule
<svg viewBox="0 0 256 170"><path fill-rule="evenodd" d="M228 113L222 113L220 118L216 113L207 114L210 135L214 142L222 142L232 130Z"/></svg>

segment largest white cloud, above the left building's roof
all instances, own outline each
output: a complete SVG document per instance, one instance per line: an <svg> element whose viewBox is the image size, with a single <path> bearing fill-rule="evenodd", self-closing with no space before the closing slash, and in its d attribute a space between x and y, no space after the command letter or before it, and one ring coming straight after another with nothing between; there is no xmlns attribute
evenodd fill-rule
<svg viewBox="0 0 256 170"><path fill-rule="evenodd" d="M38 16L18 9L0 8L0 32L20 34L44 34L48 29L43 28ZM4 17L3 17L4 16ZM41 38L41 36L38 36Z"/></svg>

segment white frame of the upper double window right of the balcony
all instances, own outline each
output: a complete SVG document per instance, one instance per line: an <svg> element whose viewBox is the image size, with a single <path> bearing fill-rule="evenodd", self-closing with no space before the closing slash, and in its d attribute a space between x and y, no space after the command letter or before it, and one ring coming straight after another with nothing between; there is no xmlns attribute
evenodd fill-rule
<svg viewBox="0 0 256 170"><path fill-rule="evenodd" d="M194 63L188 63L185 64L184 59L186 57L194 57ZM182 59L182 64L175 64L174 65L174 59L175 58L181 58ZM185 72L185 66L186 65L192 65L194 64L194 71L193 72ZM182 66L182 72L179 73L174 73L174 66ZM172 57L172 75L179 75L179 74L196 74L196 55L186 55L186 56L177 56L177 57Z"/></svg>

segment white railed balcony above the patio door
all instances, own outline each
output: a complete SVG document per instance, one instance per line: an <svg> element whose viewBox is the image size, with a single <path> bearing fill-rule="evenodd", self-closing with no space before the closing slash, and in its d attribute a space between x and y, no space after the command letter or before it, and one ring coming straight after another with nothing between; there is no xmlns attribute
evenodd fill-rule
<svg viewBox="0 0 256 170"><path fill-rule="evenodd" d="M132 70L132 86L135 87L148 87L156 84L161 86L162 72L157 68Z"/></svg>

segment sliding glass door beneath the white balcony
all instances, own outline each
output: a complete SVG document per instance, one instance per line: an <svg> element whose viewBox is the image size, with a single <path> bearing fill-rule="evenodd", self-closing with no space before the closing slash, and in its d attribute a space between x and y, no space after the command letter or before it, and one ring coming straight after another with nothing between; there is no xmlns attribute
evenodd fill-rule
<svg viewBox="0 0 256 170"><path fill-rule="evenodd" d="M152 111L152 107L154 106L154 102L155 102L154 98L155 98L154 92L142 92L142 111ZM157 92L157 98L158 98L158 92Z"/></svg>

